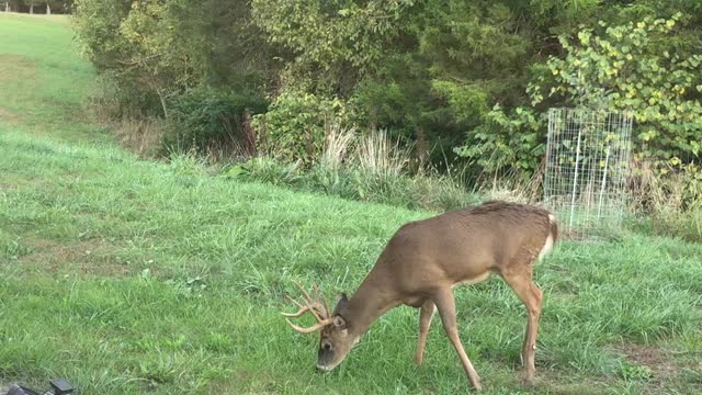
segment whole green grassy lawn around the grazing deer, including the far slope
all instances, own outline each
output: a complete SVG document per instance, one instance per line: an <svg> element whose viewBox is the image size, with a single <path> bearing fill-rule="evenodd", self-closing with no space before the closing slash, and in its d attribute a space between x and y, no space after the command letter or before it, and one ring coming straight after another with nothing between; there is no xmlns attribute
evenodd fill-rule
<svg viewBox="0 0 702 395"><path fill-rule="evenodd" d="M432 213L139 160L86 116L94 71L60 18L0 14L0 386L68 377L82 394L454 394L468 382L438 320L382 317L337 371L279 313L293 281L352 292L403 223ZM486 393L695 394L702 246L622 234L561 244L534 387L524 308L501 281L456 292Z"/></svg>

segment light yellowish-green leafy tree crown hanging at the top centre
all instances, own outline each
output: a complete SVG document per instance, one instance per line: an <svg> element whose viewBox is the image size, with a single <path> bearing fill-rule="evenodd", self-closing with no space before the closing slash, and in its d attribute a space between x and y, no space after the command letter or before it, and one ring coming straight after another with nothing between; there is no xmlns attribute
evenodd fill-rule
<svg viewBox="0 0 702 395"><path fill-rule="evenodd" d="M274 45L291 52L286 83L347 91L354 75L377 69L405 29L415 0L253 0L253 22ZM355 71L352 72L351 70Z"/></svg>

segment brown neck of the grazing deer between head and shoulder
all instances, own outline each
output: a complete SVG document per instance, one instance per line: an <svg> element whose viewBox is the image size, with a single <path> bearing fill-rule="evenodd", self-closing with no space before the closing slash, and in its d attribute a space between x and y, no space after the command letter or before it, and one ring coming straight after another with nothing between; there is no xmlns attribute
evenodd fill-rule
<svg viewBox="0 0 702 395"><path fill-rule="evenodd" d="M388 285L382 271L375 269L363 280L344 312L352 335L361 337L375 319L399 304L397 293Z"/></svg>

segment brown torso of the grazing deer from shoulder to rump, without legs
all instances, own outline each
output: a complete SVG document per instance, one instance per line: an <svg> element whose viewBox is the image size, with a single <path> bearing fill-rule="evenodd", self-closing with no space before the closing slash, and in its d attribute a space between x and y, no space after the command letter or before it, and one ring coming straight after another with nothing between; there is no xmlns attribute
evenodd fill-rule
<svg viewBox="0 0 702 395"><path fill-rule="evenodd" d="M405 287L478 282L511 264L531 264L551 233L546 210L487 202L403 226L378 264Z"/></svg>

